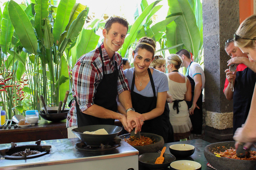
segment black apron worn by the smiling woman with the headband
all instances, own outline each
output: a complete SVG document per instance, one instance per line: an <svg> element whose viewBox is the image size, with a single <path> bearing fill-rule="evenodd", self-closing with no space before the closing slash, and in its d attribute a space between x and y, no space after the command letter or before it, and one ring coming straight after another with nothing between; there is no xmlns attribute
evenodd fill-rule
<svg viewBox="0 0 256 170"><path fill-rule="evenodd" d="M152 90L154 93L153 97L145 97L133 91L134 85L135 85L135 74L133 74L132 85L131 85L132 106L135 109L135 111L140 114L150 112L151 110L156 108L156 102L157 102L156 90L155 90L153 77L149 68L148 68L148 75L149 75ZM164 138L165 143L168 142L168 138L170 138L168 133L170 133L170 130L172 129L170 124L170 119L166 118L166 117L169 117L169 112L170 111L165 110L165 112L162 115L154 119L145 121L144 124L142 125L141 132L154 133L154 134L160 135Z"/></svg>

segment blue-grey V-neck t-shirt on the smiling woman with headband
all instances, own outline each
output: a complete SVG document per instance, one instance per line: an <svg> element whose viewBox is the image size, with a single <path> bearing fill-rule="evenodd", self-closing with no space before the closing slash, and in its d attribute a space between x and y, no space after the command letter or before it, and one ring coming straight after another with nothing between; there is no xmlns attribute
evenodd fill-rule
<svg viewBox="0 0 256 170"><path fill-rule="evenodd" d="M134 67L124 70L124 75L128 80L130 89L132 87L133 72L134 72ZM158 92L165 92L165 91L169 90L168 79L167 79L167 76L165 75L165 73L154 69L154 71L152 73L152 77L153 77L154 84L155 84L156 96L157 96ZM145 97L153 97L154 96L150 81L148 82L147 86L141 91L138 91L136 86L134 85L134 90L133 91L135 93L138 93L138 94L140 94L142 96L145 96Z"/></svg>

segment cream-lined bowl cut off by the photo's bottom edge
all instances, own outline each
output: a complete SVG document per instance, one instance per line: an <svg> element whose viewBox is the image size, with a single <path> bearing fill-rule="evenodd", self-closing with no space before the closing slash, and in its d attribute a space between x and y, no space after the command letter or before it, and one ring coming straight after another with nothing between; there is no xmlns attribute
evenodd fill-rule
<svg viewBox="0 0 256 170"><path fill-rule="evenodd" d="M195 161L179 160L172 162L170 167L172 170L199 170L202 166L200 163Z"/></svg>

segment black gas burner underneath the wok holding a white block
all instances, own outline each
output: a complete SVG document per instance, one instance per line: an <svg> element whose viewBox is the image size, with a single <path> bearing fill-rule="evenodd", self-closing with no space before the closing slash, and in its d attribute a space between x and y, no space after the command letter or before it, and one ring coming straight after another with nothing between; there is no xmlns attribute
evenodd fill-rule
<svg viewBox="0 0 256 170"><path fill-rule="evenodd" d="M100 144L100 146L90 146L86 145L84 142L78 142L75 145L75 148L78 150L82 151L92 151L92 152L97 152L97 151L107 151L107 150L112 150L121 145L121 138L116 136L113 141L109 142L108 144Z"/></svg>

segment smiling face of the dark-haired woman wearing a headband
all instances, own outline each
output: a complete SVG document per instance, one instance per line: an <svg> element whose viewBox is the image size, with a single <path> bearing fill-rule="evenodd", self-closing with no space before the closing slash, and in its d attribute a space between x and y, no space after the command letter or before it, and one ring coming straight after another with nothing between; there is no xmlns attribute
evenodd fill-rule
<svg viewBox="0 0 256 170"><path fill-rule="evenodd" d="M153 61L154 54L146 49L139 49L136 53L133 52L133 65L136 72L147 71L150 63Z"/></svg>

